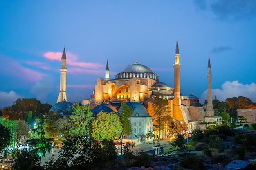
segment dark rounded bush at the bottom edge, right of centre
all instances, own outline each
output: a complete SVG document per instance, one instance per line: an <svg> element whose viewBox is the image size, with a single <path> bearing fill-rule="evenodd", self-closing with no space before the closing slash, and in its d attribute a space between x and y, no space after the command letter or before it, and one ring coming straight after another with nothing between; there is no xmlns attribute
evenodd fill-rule
<svg viewBox="0 0 256 170"><path fill-rule="evenodd" d="M192 170L207 170L203 164L203 160L195 155L187 155L180 163L183 168Z"/></svg>

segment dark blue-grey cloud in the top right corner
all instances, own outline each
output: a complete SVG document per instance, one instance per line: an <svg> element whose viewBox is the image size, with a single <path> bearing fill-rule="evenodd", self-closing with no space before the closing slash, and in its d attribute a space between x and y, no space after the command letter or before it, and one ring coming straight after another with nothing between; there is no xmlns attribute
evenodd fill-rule
<svg viewBox="0 0 256 170"><path fill-rule="evenodd" d="M255 0L194 0L201 10L210 9L219 20L243 20L256 16Z"/></svg>

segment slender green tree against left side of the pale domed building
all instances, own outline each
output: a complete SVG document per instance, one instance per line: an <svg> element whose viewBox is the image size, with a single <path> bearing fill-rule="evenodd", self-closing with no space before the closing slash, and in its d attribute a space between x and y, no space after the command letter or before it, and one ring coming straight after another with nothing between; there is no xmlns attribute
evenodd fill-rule
<svg viewBox="0 0 256 170"><path fill-rule="evenodd" d="M119 113L120 120L123 124L123 133L129 135L130 133L132 133L132 127L130 125L129 118L132 116L133 110L130 106L126 105L126 103L123 102L119 109Z"/></svg>

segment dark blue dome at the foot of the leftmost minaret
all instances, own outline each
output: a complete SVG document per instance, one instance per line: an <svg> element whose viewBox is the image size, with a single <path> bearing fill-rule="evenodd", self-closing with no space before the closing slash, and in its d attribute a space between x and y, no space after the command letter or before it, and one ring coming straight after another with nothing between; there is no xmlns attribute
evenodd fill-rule
<svg viewBox="0 0 256 170"><path fill-rule="evenodd" d="M51 107L49 112L53 111L54 113L57 113L60 116L70 116L72 115L73 109L72 107L75 106L70 102L58 102L55 105Z"/></svg>

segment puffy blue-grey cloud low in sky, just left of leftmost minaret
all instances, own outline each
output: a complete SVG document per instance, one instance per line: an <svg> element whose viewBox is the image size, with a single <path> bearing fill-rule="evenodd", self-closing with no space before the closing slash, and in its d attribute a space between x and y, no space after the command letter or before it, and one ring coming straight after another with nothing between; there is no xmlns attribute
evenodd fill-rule
<svg viewBox="0 0 256 170"><path fill-rule="evenodd" d="M40 81L32 86L30 92L36 95L37 100L45 102L47 100L47 95L54 89L52 82L54 82L52 76L43 76Z"/></svg>

